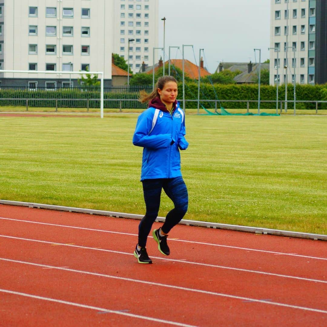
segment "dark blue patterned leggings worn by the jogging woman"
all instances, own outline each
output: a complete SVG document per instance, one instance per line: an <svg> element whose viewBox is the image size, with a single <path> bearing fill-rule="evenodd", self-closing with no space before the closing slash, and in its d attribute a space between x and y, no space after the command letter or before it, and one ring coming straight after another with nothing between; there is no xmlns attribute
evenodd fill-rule
<svg viewBox="0 0 327 327"><path fill-rule="evenodd" d="M146 246L146 239L151 231L152 224L156 220L160 207L161 190L174 202L175 208L166 215L162 226L164 233L177 225L184 217L188 206L188 194L182 177L158 178L143 180L143 194L146 204L146 214L139 225L139 246Z"/></svg>

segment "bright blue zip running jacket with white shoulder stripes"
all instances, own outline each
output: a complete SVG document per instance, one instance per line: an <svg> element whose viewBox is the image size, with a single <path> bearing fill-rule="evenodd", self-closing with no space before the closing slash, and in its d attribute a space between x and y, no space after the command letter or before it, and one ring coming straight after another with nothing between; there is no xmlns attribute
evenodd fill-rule
<svg viewBox="0 0 327 327"><path fill-rule="evenodd" d="M148 108L137 119L133 144L143 146L141 181L181 176L180 151L186 150L185 114Z"/></svg>

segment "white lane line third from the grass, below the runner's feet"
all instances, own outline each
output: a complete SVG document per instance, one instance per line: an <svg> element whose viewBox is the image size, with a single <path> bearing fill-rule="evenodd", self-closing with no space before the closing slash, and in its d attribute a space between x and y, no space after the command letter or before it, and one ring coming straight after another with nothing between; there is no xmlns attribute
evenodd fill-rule
<svg viewBox="0 0 327 327"><path fill-rule="evenodd" d="M252 299L252 298L247 298L247 297L237 296L237 295L231 295L231 294L204 291L204 290L201 290L201 289L194 289L194 288L175 286L175 285L169 285L169 284L147 282L147 281L142 281L142 280L138 280L138 279L118 277L118 276L112 276L112 275L105 275L105 274L99 274L99 273L83 271L83 270L76 270L76 269L41 265L41 264L36 264L36 263L32 263L32 262L18 261L18 260L6 259L6 258L0 258L0 260L20 263L20 264L25 264L25 265L31 265L31 266L38 266L38 267L47 267L47 268L51 267L53 269L65 270L65 271L70 271L70 272L77 272L77 273L80 273L80 274L87 274L87 275L93 275L93 276L99 276L99 277L113 278L113 279L119 279L119 280L134 282L134 283L156 285L156 286L174 288L174 289L183 290L183 291L190 291L190 292L196 292L196 293L203 293L203 294L207 294L207 295L221 296L221 297L225 297L225 298L238 299L238 300L242 300L242 301L266 303L266 304L271 304L271 305L283 306L283 307L287 307L287 308L301 309L301 310L306 310L306 311L313 311L313 312L319 312L319 313L326 313L327 314L326 310L302 307L302 306L298 306L298 305L285 304L285 303L280 303L280 302L273 302L273 301L269 301L269 300Z"/></svg>

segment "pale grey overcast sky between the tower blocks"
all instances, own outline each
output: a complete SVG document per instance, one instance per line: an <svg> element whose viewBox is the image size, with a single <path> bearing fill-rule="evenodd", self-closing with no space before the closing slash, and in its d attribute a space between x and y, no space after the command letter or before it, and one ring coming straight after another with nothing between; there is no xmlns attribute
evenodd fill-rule
<svg viewBox="0 0 327 327"><path fill-rule="evenodd" d="M204 49L210 73L220 61L255 62L254 48L261 48L262 62L269 58L270 0L159 0L159 19L163 17L165 60L169 45L182 49L182 44L194 45L197 62L199 49ZM163 21L159 26L159 46L163 46ZM173 48L170 56L181 59L182 53ZM195 62L191 47L184 47L184 56Z"/></svg>

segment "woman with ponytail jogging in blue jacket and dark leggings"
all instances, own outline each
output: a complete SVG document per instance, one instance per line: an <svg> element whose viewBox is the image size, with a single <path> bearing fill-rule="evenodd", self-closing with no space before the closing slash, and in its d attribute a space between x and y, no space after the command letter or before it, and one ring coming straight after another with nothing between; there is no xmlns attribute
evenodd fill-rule
<svg viewBox="0 0 327 327"><path fill-rule="evenodd" d="M181 176L181 150L186 150L185 115L176 101L177 82L174 77L163 76L153 92L140 93L140 101L148 102L148 109L137 119L133 144L143 147L141 181L146 204L146 214L139 225L138 244L134 256L140 264L151 264L146 252L146 239L156 220L160 206L161 190L173 201L163 226L152 233L159 251L169 255L169 231L186 214L188 194Z"/></svg>

